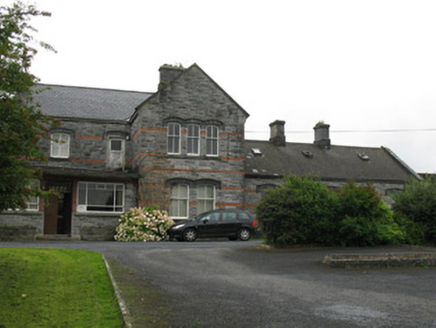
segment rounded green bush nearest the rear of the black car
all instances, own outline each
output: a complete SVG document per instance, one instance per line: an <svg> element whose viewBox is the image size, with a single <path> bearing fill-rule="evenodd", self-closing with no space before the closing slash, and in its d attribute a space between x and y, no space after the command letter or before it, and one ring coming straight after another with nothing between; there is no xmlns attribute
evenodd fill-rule
<svg viewBox="0 0 436 328"><path fill-rule="evenodd" d="M335 199L325 184L290 176L282 185L267 190L256 215L269 244L332 244Z"/></svg>

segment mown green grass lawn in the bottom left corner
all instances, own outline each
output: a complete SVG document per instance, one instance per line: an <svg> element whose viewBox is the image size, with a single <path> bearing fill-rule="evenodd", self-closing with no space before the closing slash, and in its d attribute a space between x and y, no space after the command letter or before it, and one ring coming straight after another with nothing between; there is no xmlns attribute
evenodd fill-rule
<svg viewBox="0 0 436 328"><path fill-rule="evenodd" d="M0 328L123 327L101 254L0 248Z"/></svg>

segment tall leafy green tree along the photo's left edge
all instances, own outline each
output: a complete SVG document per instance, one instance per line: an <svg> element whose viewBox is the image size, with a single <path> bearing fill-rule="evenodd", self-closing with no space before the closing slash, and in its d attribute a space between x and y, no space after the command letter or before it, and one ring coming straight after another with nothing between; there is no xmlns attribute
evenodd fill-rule
<svg viewBox="0 0 436 328"><path fill-rule="evenodd" d="M39 81L29 69L37 53L37 32L29 21L35 16L50 16L34 6L16 2L0 7L0 211L23 207L30 195L44 195L40 188L30 188L39 172L32 161L44 161L37 143L48 138L48 127L54 122L43 115L34 102Z"/></svg>

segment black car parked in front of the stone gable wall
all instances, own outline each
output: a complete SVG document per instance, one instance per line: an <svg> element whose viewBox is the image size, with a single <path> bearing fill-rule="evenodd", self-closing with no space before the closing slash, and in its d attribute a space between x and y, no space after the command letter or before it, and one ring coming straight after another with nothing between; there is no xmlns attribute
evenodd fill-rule
<svg viewBox="0 0 436 328"><path fill-rule="evenodd" d="M167 230L167 234L170 238L179 241L213 237L246 241L255 231L256 220L250 212L221 209L202 213L188 221L176 223Z"/></svg>

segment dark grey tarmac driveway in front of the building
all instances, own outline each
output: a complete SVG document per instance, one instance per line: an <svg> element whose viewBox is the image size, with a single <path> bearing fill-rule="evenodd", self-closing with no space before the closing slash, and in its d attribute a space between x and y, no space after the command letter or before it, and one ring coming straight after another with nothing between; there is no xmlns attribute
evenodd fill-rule
<svg viewBox="0 0 436 328"><path fill-rule="evenodd" d="M103 253L153 284L172 327L436 327L436 268L332 269L325 255L408 249L268 251L250 242L0 243Z"/></svg>

